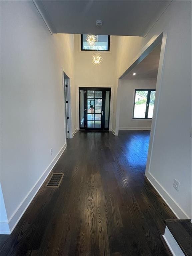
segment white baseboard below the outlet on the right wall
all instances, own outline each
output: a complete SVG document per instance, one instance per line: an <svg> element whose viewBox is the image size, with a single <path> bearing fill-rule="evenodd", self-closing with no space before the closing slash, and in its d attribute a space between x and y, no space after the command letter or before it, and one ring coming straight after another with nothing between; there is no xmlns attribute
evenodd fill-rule
<svg viewBox="0 0 192 256"><path fill-rule="evenodd" d="M169 195L169 193L159 184L159 182L153 177L151 173L145 173L145 176L178 219L191 219Z"/></svg>

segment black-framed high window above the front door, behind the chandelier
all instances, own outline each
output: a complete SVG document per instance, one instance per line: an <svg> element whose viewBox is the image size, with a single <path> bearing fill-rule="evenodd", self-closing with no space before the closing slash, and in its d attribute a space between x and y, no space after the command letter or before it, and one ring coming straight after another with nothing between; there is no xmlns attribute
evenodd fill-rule
<svg viewBox="0 0 192 256"><path fill-rule="evenodd" d="M81 35L81 51L109 51L110 36L97 35L97 41L95 45L90 46L86 42L86 34Z"/></svg>

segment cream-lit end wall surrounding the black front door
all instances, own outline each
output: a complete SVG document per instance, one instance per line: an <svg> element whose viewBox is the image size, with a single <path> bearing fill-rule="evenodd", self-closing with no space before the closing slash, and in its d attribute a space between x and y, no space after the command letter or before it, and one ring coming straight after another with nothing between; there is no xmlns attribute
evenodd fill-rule
<svg viewBox="0 0 192 256"><path fill-rule="evenodd" d="M115 52L116 37L110 38L110 51L101 52L103 62L101 65L93 65L91 57L95 51L81 51L80 35L75 38L75 84L77 87L77 102L79 101L78 87L111 87L111 103L113 103L113 87L115 83ZM79 106L78 106L79 108ZM77 109L77 123L79 124L79 113ZM112 104L110 117L112 118ZM112 119L111 119L112 122ZM110 123L111 125L111 123Z"/></svg>

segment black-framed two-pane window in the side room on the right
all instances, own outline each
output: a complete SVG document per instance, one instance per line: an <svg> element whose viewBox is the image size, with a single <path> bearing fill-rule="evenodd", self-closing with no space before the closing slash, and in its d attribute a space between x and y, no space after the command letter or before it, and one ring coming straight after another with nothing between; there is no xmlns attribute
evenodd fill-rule
<svg viewBox="0 0 192 256"><path fill-rule="evenodd" d="M155 90L135 89L133 119L152 119Z"/></svg>

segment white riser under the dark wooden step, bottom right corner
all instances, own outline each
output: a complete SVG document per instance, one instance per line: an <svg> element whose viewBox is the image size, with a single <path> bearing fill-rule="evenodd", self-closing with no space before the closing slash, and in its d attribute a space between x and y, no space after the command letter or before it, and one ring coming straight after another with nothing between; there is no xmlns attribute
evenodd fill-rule
<svg viewBox="0 0 192 256"><path fill-rule="evenodd" d="M165 234L162 235L173 256L185 256L174 236L166 226Z"/></svg>

